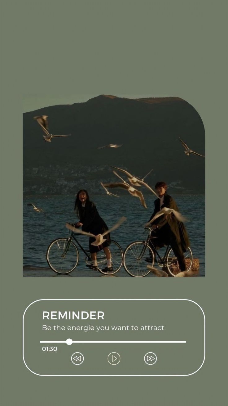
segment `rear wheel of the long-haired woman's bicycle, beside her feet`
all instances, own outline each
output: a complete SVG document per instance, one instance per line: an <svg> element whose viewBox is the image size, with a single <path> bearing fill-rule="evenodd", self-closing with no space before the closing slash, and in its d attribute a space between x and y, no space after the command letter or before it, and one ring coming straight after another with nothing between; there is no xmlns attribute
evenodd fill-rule
<svg viewBox="0 0 228 406"><path fill-rule="evenodd" d="M109 248L111 252L111 265L113 271L104 271L104 268L107 266L106 256L103 250L97 253L98 270L104 275L116 274L123 263L123 251L121 249L121 246L116 241L111 240Z"/></svg>

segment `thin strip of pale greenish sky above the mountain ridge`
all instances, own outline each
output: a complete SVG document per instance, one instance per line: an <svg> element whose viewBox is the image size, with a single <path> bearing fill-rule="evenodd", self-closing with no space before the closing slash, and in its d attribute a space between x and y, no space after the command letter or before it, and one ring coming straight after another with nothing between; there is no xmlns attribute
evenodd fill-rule
<svg viewBox="0 0 228 406"><path fill-rule="evenodd" d="M83 103L92 97L99 96L94 95L24 95L23 97L23 112L37 110L38 108L47 106L56 106L57 104L74 104ZM114 95L117 97L126 97L129 99L138 99L143 97L167 97L168 95Z"/></svg>

